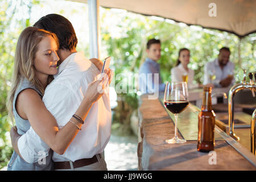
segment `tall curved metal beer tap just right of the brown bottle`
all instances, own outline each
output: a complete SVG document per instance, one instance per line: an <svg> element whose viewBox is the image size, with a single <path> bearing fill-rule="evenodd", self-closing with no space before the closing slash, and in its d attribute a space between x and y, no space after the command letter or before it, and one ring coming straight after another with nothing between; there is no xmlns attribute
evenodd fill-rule
<svg viewBox="0 0 256 182"><path fill-rule="evenodd" d="M229 135L235 140L240 140L240 138L234 134L234 95L243 89L250 89L251 93L253 93L253 97L255 97L255 88L256 85L253 82L253 73L249 73L250 83L246 82L246 71L243 70L243 80L240 84L233 85L229 90ZM255 75L254 75L255 77ZM256 78L255 78L256 79Z"/></svg>

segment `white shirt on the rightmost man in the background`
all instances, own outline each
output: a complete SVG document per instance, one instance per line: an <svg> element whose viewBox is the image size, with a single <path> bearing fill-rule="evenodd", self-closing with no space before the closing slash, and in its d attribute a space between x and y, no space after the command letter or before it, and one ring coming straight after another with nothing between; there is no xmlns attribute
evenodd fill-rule
<svg viewBox="0 0 256 182"><path fill-rule="evenodd" d="M204 67L204 85L211 83L209 77L210 72L216 76L216 78L212 81L212 84L214 84L216 87L221 87L221 80L225 79L229 75L234 75L234 64L231 61L228 61L223 69L221 69L220 64L218 63L218 58L214 61L208 62ZM234 84L234 82L235 80L233 78L231 84Z"/></svg>

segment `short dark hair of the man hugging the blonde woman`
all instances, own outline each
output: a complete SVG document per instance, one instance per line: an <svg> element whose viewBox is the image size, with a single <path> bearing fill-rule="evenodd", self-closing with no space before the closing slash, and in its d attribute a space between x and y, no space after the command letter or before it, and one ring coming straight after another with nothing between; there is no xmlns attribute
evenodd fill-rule
<svg viewBox="0 0 256 182"><path fill-rule="evenodd" d="M71 22L64 16L48 14L40 18L38 22L34 24L34 27L55 33L59 39L59 49L67 49L71 51L76 48L76 32Z"/></svg>

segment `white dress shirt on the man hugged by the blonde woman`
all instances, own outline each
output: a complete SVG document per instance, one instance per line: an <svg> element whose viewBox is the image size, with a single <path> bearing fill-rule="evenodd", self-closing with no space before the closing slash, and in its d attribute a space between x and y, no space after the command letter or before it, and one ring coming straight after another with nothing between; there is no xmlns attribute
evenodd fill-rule
<svg viewBox="0 0 256 182"><path fill-rule="evenodd" d="M55 117L59 129L68 123L80 106L88 84L100 76L100 71L81 52L72 53L59 66L55 79L49 84L43 96L46 108ZM81 131L73 139L63 155L53 152L54 162L92 158L104 151L110 139L111 108L109 94L104 94L91 107ZM49 146L30 130L18 140L19 152L28 163L42 158L42 151L48 155Z"/></svg>

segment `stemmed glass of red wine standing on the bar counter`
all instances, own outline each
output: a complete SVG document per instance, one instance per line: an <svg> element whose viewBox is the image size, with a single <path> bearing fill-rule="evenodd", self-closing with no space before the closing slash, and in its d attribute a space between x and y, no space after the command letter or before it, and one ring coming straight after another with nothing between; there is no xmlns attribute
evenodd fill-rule
<svg viewBox="0 0 256 182"><path fill-rule="evenodd" d="M185 139L177 137L177 114L188 106L187 82L167 82L164 91L164 106L175 115L175 137L167 139L167 143L185 143Z"/></svg>

